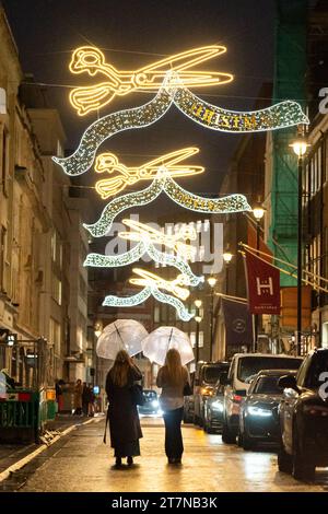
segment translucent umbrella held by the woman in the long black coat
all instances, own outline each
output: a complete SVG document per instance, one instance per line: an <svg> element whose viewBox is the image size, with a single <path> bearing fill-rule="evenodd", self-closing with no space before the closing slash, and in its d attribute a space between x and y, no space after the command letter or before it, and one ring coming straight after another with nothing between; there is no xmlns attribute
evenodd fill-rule
<svg viewBox="0 0 328 514"><path fill-rule="evenodd" d="M103 359L115 360L119 350L127 350L129 355L142 351L141 341L148 331L141 323L134 319L117 319L107 325L97 340L96 353Z"/></svg>

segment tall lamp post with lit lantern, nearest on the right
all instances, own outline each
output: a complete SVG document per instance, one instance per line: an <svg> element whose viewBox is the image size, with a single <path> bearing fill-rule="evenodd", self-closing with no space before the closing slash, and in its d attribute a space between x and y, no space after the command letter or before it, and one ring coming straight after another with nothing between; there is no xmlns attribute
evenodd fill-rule
<svg viewBox="0 0 328 514"><path fill-rule="evenodd" d="M302 200L303 200L303 157L306 153L307 142L304 138L297 138L290 147L297 155L298 192L297 192L297 329L296 329L296 352L301 355L302 337Z"/></svg>

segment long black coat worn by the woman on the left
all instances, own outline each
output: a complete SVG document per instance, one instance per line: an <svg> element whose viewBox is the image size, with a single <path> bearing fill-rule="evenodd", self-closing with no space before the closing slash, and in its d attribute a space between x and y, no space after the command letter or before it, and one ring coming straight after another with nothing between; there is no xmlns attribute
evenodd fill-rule
<svg viewBox="0 0 328 514"><path fill-rule="evenodd" d="M141 381L142 375L137 366L129 370L128 383L124 387L112 381L110 370L106 378L106 393L109 401L109 433L112 447L119 447L142 437L137 406L132 404L130 387Z"/></svg>

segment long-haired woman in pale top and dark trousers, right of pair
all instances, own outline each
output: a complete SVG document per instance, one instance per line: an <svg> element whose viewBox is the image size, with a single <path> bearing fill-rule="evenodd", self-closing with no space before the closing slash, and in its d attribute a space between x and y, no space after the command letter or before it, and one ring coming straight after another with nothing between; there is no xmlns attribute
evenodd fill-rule
<svg viewBox="0 0 328 514"><path fill-rule="evenodd" d="M189 384L188 371L181 364L179 352L172 348L160 369L156 385L162 388L160 405L165 424L165 453L168 464L180 464L184 453L181 421L184 417L184 388Z"/></svg>

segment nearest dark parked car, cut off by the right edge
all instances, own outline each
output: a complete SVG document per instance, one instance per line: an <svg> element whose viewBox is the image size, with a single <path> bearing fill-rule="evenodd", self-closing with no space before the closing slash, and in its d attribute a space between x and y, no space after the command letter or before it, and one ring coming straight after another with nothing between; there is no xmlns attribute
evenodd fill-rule
<svg viewBox="0 0 328 514"><path fill-rule="evenodd" d="M296 479L312 478L317 466L328 466L328 349L313 350L296 377L283 376L279 414L280 471Z"/></svg>

